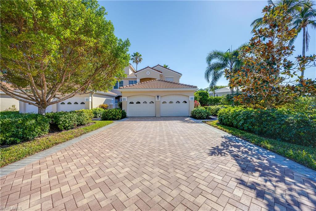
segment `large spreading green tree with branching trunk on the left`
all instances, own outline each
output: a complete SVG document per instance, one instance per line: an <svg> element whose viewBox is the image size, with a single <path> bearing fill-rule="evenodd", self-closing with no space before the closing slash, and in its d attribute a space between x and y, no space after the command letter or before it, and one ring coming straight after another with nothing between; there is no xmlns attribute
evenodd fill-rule
<svg viewBox="0 0 316 211"><path fill-rule="evenodd" d="M1 90L45 114L76 94L110 89L125 75L130 43L105 15L93 0L1 2Z"/></svg>

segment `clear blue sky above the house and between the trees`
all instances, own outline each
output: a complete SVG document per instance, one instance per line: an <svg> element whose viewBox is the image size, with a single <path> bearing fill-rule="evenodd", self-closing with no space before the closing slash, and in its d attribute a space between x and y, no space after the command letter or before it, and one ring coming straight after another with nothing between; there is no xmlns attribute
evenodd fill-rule
<svg viewBox="0 0 316 211"><path fill-rule="evenodd" d="M138 69L167 64L182 73L180 83L208 87L204 79L205 57L213 49L237 48L252 37L250 23L261 17L266 1L99 1L115 35L128 38L129 53L138 51L143 61ZM316 31L307 54L315 54ZM301 54L302 37L294 43ZM136 65L133 64L136 68ZM316 78L316 68L305 74ZM227 85L223 77L218 85Z"/></svg>

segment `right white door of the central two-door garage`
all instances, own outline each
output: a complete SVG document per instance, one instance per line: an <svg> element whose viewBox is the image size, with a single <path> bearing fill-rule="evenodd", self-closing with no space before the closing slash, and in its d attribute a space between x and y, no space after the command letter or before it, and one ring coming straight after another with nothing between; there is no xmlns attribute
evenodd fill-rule
<svg viewBox="0 0 316 211"><path fill-rule="evenodd" d="M161 97L161 116L189 116L189 97L166 95Z"/></svg>

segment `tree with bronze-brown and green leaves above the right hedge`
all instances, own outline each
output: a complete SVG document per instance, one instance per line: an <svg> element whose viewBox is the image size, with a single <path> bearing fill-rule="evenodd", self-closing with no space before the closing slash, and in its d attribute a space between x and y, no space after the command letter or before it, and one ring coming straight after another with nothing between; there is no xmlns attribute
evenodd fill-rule
<svg viewBox="0 0 316 211"><path fill-rule="evenodd" d="M316 95L315 80L304 79L300 72L315 66L316 56L298 56L289 61L294 46L290 40L297 35L290 28L292 17L286 6L263 9L265 28L253 30L249 45L240 52L243 67L236 72L226 70L229 85L240 86L235 101L252 107L273 108L303 95Z"/></svg>

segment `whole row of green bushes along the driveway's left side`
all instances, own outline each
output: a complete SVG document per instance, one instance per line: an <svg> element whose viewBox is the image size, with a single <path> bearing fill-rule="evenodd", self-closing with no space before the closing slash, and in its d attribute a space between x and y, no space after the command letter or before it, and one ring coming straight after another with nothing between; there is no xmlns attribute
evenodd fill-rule
<svg viewBox="0 0 316 211"><path fill-rule="evenodd" d="M46 115L19 112L0 112L0 144L17 144L48 134L50 129L70 130L86 125L91 118L119 120L126 117L120 109L94 108L71 112L52 112Z"/></svg>

